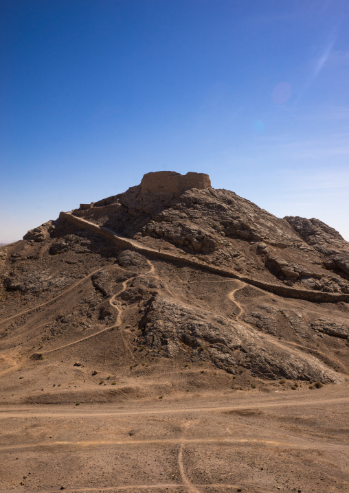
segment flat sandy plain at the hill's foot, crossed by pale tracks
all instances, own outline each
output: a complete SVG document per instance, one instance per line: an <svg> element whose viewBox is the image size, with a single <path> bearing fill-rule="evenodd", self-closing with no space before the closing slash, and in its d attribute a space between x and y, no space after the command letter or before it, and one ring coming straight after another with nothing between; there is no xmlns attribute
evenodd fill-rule
<svg viewBox="0 0 349 493"><path fill-rule="evenodd" d="M2 406L1 492L348 492L349 385Z"/></svg>

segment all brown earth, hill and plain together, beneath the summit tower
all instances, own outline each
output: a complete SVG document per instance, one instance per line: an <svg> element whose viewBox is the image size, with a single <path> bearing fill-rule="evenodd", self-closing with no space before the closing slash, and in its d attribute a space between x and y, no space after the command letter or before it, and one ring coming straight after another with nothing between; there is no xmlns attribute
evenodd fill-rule
<svg viewBox="0 0 349 493"><path fill-rule="evenodd" d="M24 238L0 248L1 491L349 491L337 231L205 185Z"/></svg>

